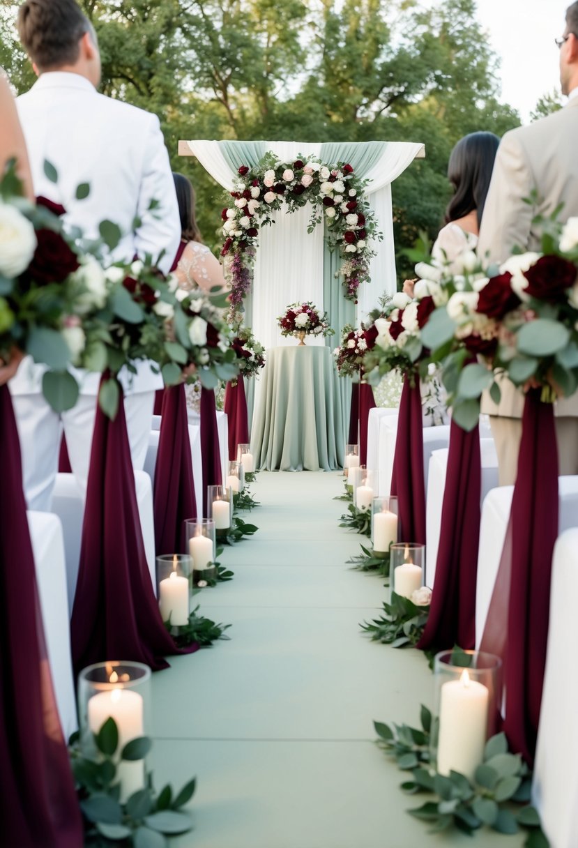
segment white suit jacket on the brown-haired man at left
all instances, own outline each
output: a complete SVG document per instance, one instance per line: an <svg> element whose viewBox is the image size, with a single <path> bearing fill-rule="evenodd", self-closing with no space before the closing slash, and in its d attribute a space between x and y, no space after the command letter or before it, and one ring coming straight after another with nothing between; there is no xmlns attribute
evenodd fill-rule
<svg viewBox="0 0 578 848"><path fill-rule="evenodd" d="M42 74L17 100L18 113L31 160L36 195L66 209L65 223L79 226L89 239L98 237L98 224L113 220L124 233L110 257L128 260L151 254L169 271L181 241L181 220L169 155L156 115L128 103L104 97L85 77L61 71ZM47 159L58 171L54 184L44 173ZM76 187L90 184L90 194L77 200ZM155 214L147 211L158 201ZM136 217L142 223L136 229ZM29 358L27 358L29 360ZM138 375L122 382L129 391L162 388L146 362ZM96 393L98 377L83 374L81 391ZM24 361L10 381L13 393L40 390L42 368Z"/></svg>

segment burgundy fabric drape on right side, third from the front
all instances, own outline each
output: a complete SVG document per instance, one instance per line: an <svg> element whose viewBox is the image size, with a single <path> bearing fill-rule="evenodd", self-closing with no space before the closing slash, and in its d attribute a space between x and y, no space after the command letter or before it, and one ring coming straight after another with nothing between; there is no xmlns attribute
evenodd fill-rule
<svg viewBox="0 0 578 848"><path fill-rule="evenodd" d="M397 494L399 538L403 542L420 544L425 544L423 426L420 380L415 377L415 385L412 387L408 377L405 377L397 417L390 494Z"/></svg>

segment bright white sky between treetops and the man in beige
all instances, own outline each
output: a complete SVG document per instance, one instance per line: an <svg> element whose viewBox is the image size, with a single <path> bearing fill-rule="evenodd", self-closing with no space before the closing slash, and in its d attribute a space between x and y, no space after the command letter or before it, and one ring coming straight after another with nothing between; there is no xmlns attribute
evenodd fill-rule
<svg viewBox="0 0 578 848"><path fill-rule="evenodd" d="M478 0L478 19L501 59L502 100L524 123L542 94L559 92L558 47L571 0Z"/></svg>

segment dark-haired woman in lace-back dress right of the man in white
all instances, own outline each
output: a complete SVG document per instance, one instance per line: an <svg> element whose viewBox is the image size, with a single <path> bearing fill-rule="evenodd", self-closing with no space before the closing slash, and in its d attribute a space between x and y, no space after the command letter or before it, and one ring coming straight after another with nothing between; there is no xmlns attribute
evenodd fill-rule
<svg viewBox="0 0 578 848"><path fill-rule="evenodd" d="M175 256L172 271L179 286L186 291L193 288L226 288L225 276L218 259L203 244L195 217L195 190L191 181L182 174L173 174L176 198L181 215L181 244Z"/></svg>

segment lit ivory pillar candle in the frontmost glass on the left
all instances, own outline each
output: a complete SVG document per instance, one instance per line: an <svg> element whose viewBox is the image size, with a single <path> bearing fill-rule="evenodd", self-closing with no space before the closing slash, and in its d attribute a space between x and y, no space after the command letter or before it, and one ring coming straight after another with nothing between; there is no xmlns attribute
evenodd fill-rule
<svg viewBox="0 0 578 848"><path fill-rule="evenodd" d="M114 683L116 672L111 675ZM143 701L138 692L130 689L108 689L92 695L88 701L88 727L97 734L108 718L113 718L119 729L118 753L131 739L136 739L144 733ZM120 801L125 802L133 792L144 789L144 761L133 762L121 760L116 767L117 778L120 780Z"/></svg>

